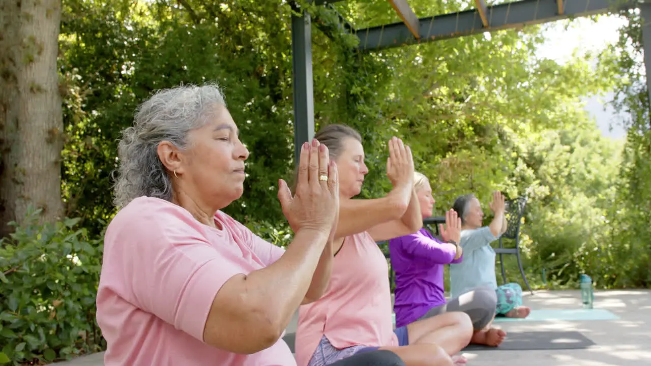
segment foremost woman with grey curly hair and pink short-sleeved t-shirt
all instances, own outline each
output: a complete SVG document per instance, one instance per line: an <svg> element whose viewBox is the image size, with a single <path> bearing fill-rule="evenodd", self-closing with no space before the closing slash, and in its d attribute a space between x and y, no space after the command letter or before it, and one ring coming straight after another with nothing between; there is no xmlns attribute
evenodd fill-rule
<svg viewBox="0 0 651 366"><path fill-rule="evenodd" d="M314 140L293 197L279 180L295 233L285 251L220 211L242 195L248 156L215 86L160 91L139 107L118 147L120 210L104 238L105 365L296 365L281 337L327 286L337 169ZM386 352L344 361L402 364Z"/></svg>

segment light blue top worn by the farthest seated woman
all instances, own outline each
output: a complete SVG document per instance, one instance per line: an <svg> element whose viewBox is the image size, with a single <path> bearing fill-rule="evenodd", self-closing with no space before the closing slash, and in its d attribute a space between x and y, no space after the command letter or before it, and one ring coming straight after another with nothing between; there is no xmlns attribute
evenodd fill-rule
<svg viewBox="0 0 651 366"><path fill-rule="evenodd" d="M464 248L464 260L450 264L450 295L456 298L475 287L497 289L495 251L490 243L497 240L490 227L463 230L459 245Z"/></svg>

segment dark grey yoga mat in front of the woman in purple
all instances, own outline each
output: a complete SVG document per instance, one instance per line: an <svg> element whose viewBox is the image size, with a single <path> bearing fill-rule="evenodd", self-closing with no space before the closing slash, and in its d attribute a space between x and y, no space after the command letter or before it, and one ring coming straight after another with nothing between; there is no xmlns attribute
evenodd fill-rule
<svg viewBox="0 0 651 366"><path fill-rule="evenodd" d="M462 352L483 350L578 350L595 343L578 331L508 331L499 347L468 345Z"/></svg>

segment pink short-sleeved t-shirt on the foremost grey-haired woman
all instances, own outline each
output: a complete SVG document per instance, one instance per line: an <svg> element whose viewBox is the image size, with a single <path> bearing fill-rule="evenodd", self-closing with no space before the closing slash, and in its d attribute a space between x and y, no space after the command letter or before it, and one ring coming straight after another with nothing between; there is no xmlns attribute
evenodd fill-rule
<svg viewBox="0 0 651 366"><path fill-rule="evenodd" d="M296 366L283 339L251 355L203 343L221 286L283 255L228 215L217 212L215 221L223 230L151 197L134 199L113 218L97 294L105 365Z"/></svg>

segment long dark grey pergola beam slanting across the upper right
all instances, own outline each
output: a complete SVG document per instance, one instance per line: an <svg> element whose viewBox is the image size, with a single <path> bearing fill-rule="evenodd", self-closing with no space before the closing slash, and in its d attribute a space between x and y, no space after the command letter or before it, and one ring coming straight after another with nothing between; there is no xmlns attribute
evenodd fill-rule
<svg viewBox="0 0 651 366"><path fill-rule="evenodd" d="M558 13L557 0L520 0L487 7L490 27L482 24L479 10L421 18L419 38L415 38L404 23L393 23L359 29L359 49L372 50L404 46L421 42L476 35L486 31L499 31L545 23L547 21L602 14L611 10L632 8L635 1L572 0L564 3L563 14Z"/></svg>

